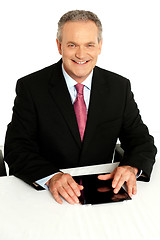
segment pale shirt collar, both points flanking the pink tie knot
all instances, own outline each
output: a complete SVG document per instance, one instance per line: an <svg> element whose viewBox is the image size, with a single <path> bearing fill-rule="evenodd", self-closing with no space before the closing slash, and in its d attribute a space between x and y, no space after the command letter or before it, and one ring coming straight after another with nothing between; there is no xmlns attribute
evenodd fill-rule
<svg viewBox="0 0 160 240"><path fill-rule="evenodd" d="M62 72L63 72L68 89L74 87L77 84L77 82L68 75L68 73L65 71L63 67L63 64L62 64ZM93 70L89 74L89 76L82 82L82 84L85 85L89 90L91 90L92 76L93 76Z"/></svg>

